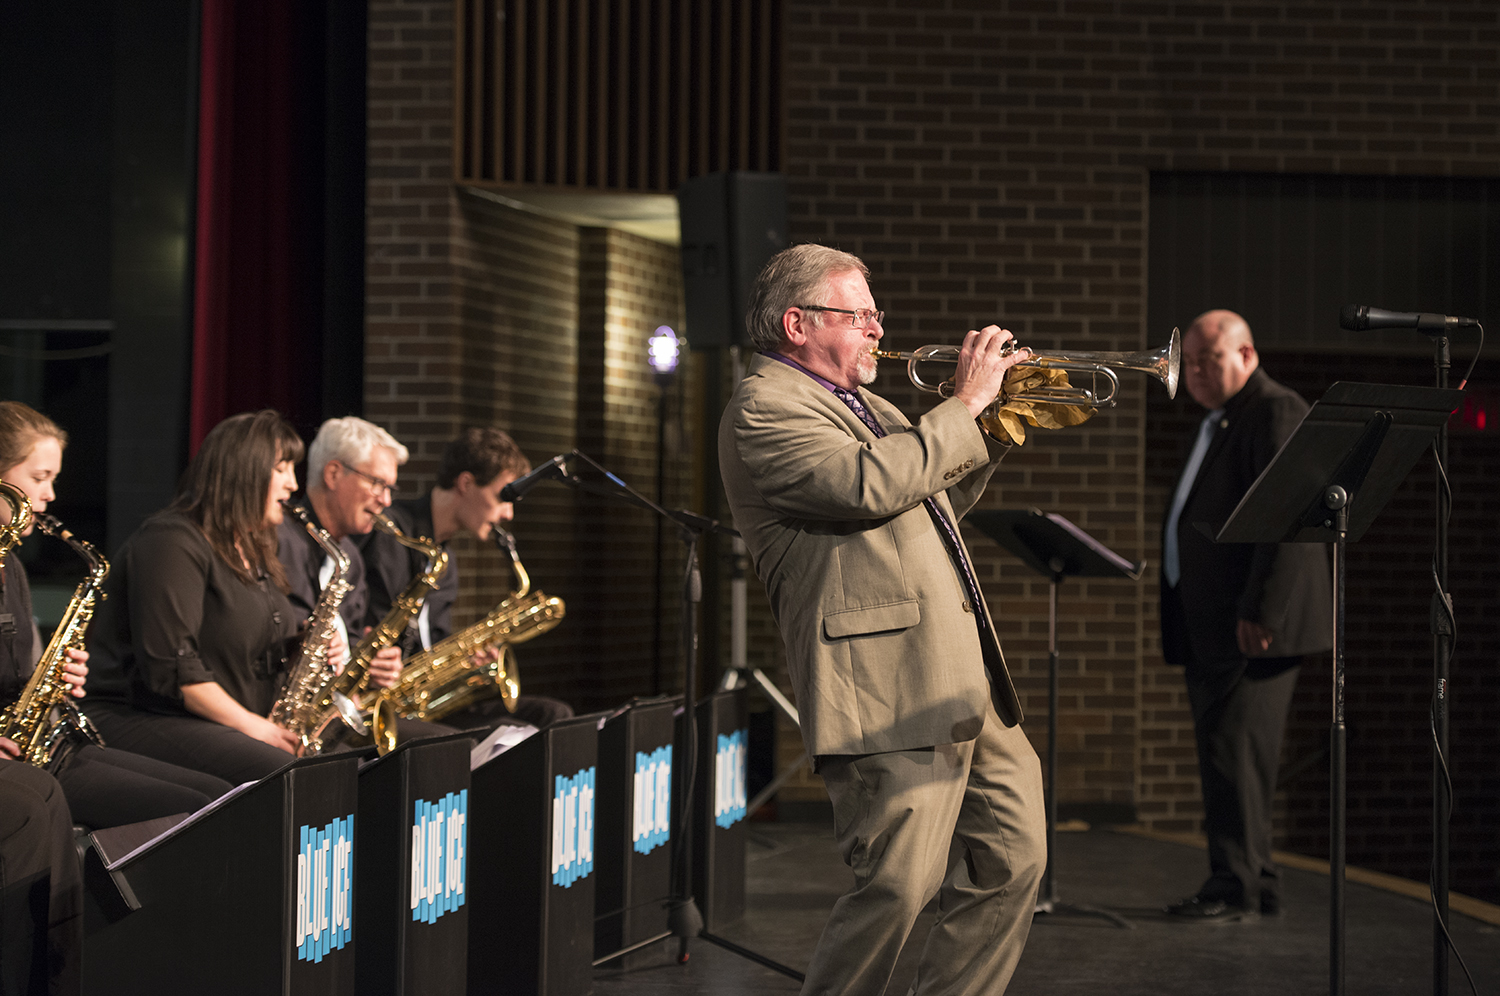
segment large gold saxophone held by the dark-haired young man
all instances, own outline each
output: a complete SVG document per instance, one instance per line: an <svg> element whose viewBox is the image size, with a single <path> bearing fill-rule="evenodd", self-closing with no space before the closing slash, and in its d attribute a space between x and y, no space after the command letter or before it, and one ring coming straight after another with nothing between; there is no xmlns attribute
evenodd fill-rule
<svg viewBox="0 0 1500 996"><path fill-rule="evenodd" d="M516 538L500 526L494 528L494 536L495 546L510 552L516 591L474 626L408 658L400 680L375 696L372 704L384 699L398 716L441 720L498 694L506 708L514 711L520 681L510 648L555 628L567 614L567 606L561 598L531 591L531 578L516 554ZM488 646L500 648L496 660L476 663L474 656Z"/></svg>

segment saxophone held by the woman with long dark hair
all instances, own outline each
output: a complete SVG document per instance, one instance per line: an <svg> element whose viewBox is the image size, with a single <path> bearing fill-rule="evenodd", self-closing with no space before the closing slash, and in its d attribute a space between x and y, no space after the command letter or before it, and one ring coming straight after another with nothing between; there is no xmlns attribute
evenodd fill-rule
<svg viewBox="0 0 1500 996"><path fill-rule="evenodd" d="M322 586L318 604L308 620L308 632L302 638L302 650L286 674L286 686L272 705L270 720L297 735L302 744L297 756L315 754L322 750L324 718L333 708L334 681L338 674L328 663L328 638L338 630L339 603L354 585L350 584L350 556L333 542L302 506L285 506L308 536L333 558L333 576Z"/></svg>

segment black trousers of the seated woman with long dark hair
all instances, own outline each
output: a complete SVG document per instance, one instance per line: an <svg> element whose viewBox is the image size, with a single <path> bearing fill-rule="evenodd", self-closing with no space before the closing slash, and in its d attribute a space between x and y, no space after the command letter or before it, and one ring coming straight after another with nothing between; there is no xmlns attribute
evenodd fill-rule
<svg viewBox="0 0 1500 996"><path fill-rule="evenodd" d="M123 702L90 702L86 711L111 747L202 771L230 784L256 782L292 760L280 747L196 716L142 712Z"/></svg>

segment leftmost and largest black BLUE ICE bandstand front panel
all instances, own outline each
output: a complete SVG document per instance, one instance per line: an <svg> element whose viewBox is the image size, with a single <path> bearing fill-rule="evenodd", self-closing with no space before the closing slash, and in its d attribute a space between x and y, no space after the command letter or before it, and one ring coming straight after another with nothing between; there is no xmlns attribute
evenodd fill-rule
<svg viewBox="0 0 1500 996"><path fill-rule="evenodd" d="M84 992L352 996L357 768L297 759L123 855L90 834Z"/></svg>

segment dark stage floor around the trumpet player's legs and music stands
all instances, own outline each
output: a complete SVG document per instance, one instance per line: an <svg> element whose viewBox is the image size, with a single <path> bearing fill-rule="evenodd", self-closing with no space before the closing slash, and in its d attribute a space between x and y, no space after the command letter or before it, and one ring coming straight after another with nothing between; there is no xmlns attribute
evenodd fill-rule
<svg viewBox="0 0 1500 996"><path fill-rule="evenodd" d="M1102 920L1040 920L1010 993L1107 993L1110 996L1264 996L1328 992L1328 878L1284 872L1286 912L1242 924L1182 924L1156 910L1191 894L1206 867L1203 850L1174 842L1094 830L1060 832L1058 891L1070 903L1122 914L1134 930ZM720 933L795 969L804 969L848 870L832 836L804 824L753 824L748 910ZM1461 886L1460 886L1461 888ZM1424 902L1356 882L1347 891L1348 982L1362 996L1432 992L1432 915ZM918 921L926 933L932 914ZM1479 993L1500 993L1500 927L1452 914L1455 940ZM670 946L668 946L670 945ZM596 970L594 996L795 993L796 982L704 940L688 964L666 942L636 957L628 970ZM920 944L902 952L890 993L904 993ZM1456 963L1449 992L1468 993Z"/></svg>

